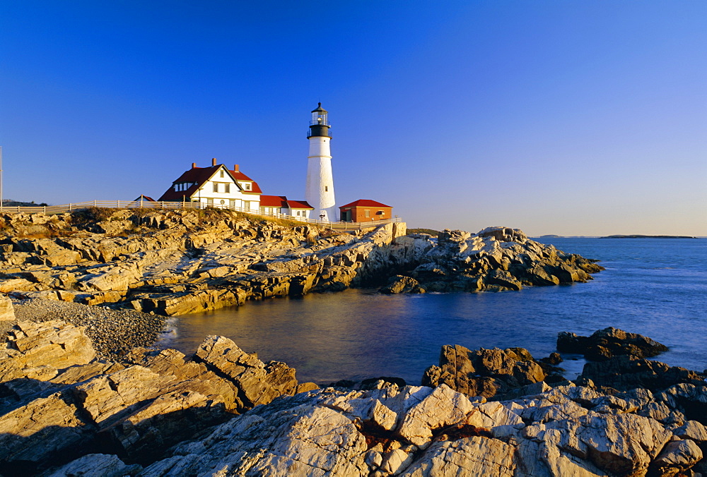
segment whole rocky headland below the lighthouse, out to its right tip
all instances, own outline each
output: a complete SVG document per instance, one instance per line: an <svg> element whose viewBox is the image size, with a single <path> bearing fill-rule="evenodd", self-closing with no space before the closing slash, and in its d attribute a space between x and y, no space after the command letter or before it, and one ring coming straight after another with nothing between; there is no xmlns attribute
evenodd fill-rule
<svg viewBox="0 0 707 477"><path fill-rule="evenodd" d="M602 267L518 229L404 223L319 229L228 210L0 214L0 292L165 316L349 287L510 291L587 282Z"/></svg>

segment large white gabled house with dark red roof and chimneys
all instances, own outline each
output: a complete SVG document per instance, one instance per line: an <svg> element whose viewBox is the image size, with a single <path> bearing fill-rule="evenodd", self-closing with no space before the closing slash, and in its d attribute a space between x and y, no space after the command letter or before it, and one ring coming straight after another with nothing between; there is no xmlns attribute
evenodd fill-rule
<svg viewBox="0 0 707 477"><path fill-rule="evenodd" d="M228 169L211 159L211 167L197 167L192 162L192 169L179 176L158 202L199 202L207 207L259 212L261 194L257 182L243 174L238 164Z"/></svg>

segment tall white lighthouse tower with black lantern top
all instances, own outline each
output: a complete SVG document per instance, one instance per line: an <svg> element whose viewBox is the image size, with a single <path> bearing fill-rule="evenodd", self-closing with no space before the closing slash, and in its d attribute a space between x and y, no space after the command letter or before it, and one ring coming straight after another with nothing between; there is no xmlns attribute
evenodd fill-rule
<svg viewBox="0 0 707 477"><path fill-rule="evenodd" d="M312 111L312 119L307 138L310 152L307 163L307 188L305 198L314 207L312 218L334 222L337 220L336 200L334 200L334 176L332 175L332 152L329 141L328 112L319 103Z"/></svg>

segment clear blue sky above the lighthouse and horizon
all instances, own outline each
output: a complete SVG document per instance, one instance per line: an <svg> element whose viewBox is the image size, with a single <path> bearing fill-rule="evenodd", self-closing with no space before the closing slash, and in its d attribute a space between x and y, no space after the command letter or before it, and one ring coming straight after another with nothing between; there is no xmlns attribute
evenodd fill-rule
<svg viewBox="0 0 707 477"><path fill-rule="evenodd" d="M707 2L5 1L4 198L159 196L211 157L409 227L707 236Z"/></svg>

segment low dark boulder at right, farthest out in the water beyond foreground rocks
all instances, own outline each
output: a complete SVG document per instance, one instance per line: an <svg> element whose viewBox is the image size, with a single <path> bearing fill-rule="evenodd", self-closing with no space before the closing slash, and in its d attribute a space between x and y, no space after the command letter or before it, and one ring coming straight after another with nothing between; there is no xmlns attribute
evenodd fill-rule
<svg viewBox="0 0 707 477"><path fill-rule="evenodd" d="M642 334L628 333L614 327L598 330L589 337L569 332L560 332L557 335L557 351L583 354L592 361L604 361L622 355L651 358L667 349L665 344Z"/></svg>

